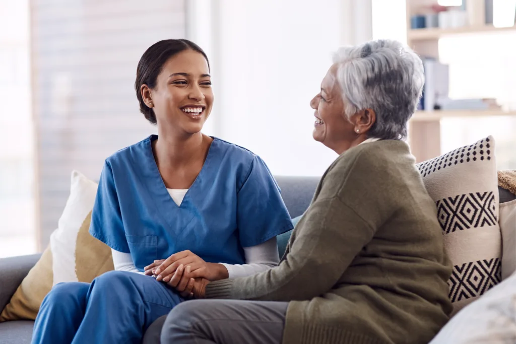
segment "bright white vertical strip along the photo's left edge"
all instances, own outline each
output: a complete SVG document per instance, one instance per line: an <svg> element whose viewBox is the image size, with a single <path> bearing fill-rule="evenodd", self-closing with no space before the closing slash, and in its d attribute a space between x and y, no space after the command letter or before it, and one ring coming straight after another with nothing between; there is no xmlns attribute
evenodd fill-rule
<svg viewBox="0 0 516 344"><path fill-rule="evenodd" d="M0 0L0 257L36 251L28 0Z"/></svg>

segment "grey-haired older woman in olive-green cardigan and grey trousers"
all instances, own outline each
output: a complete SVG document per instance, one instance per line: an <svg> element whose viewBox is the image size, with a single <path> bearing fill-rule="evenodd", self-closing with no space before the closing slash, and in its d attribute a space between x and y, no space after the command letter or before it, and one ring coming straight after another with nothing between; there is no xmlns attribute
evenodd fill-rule
<svg viewBox="0 0 516 344"><path fill-rule="evenodd" d="M310 104L314 139L339 156L282 261L197 279L196 298L212 300L176 306L162 343L428 343L451 312L451 266L402 141L423 83L421 60L399 42L341 48Z"/></svg>

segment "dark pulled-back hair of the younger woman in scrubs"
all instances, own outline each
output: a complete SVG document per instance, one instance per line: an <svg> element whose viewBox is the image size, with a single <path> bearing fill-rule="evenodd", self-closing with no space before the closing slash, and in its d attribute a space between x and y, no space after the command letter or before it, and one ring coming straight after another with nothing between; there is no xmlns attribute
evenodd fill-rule
<svg viewBox="0 0 516 344"><path fill-rule="evenodd" d="M143 113L145 118L152 124L156 124L156 115L154 114L154 110L143 102L143 97L140 92L141 85L145 84L151 89L156 87L156 79L159 73L161 73L165 62L172 56L185 50L193 50L201 53L206 59L206 62L208 62L209 69L209 61L206 53L204 53L199 45L187 39L166 39L154 43L143 53L140 62L138 62L136 81L134 83L136 97L138 98L138 102L140 102L140 112Z"/></svg>

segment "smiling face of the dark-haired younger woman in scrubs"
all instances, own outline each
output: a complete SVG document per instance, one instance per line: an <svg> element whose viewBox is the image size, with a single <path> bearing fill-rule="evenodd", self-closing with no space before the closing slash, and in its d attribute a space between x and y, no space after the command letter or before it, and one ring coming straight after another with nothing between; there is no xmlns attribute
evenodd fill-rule
<svg viewBox="0 0 516 344"><path fill-rule="evenodd" d="M141 86L156 115L160 135L199 133L213 106L209 67L204 56L184 50L165 62L156 86ZM147 103L147 102L146 102Z"/></svg>

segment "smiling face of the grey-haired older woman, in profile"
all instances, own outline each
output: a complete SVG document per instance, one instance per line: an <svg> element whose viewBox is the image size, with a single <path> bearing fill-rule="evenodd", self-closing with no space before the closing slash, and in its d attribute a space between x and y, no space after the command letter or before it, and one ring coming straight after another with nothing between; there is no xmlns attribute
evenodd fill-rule
<svg viewBox="0 0 516 344"><path fill-rule="evenodd" d="M345 104L341 88L336 82L336 71L337 65L334 64L322 79L321 91L312 99L310 106L315 109L314 139L337 152L357 136L354 125L344 111Z"/></svg>

